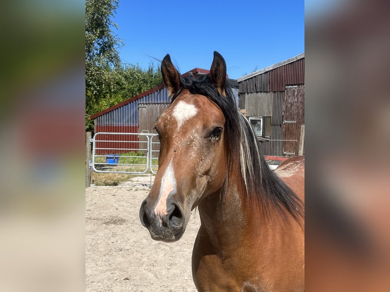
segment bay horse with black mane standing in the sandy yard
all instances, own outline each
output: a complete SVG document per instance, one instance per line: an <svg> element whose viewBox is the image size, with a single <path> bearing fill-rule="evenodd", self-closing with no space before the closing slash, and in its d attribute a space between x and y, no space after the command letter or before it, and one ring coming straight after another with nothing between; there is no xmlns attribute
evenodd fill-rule
<svg viewBox="0 0 390 292"><path fill-rule="evenodd" d="M182 77L161 63L172 103L155 124L158 172L140 210L154 240L179 240L198 207L192 252L199 291L304 290L304 158L270 170L236 107L226 63Z"/></svg>

